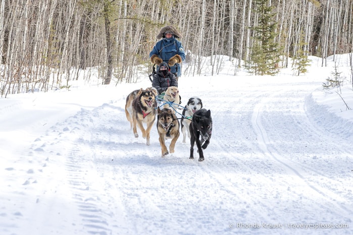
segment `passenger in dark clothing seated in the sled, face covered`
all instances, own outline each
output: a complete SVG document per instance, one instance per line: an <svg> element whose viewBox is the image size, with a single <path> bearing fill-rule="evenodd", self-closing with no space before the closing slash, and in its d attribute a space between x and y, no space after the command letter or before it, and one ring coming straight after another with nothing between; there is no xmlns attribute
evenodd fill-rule
<svg viewBox="0 0 353 235"><path fill-rule="evenodd" d="M166 62L159 65L159 69L155 76L153 76L152 86L157 89L158 95L162 95L168 87L178 87L178 81L175 75L170 73L170 68ZM161 97L163 99L163 97Z"/></svg>

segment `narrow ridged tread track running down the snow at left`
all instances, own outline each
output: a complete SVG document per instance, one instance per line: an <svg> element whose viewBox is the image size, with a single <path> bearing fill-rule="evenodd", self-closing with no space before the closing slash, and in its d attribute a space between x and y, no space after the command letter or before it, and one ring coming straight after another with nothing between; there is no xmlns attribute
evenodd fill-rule
<svg viewBox="0 0 353 235"><path fill-rule="evenodd" d="M68 130L68 139L71 139L71 149L66 153L66 173L69 187L71 188L72 200L76 204L81 222L77 221L82 226L80 229L87 234L111 234L111 229L107 222L109 214L104 212L99 207L101 192L92 187L91 177L95 174L94 168L91 165L89 149L85 149L85 138L89 136L89 130L83 127L85 114L87 111L82 110L75 116L65 121L65 130ZM65 134L62 136L65 139ZM87 193L89 192L89 193ZM89 195L89 197L87 197Z"/></svg>

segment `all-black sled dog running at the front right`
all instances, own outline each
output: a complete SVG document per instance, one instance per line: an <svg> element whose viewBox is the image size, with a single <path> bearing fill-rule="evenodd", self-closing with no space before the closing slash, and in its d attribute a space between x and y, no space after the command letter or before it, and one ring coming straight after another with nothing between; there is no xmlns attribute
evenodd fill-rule
<svg viewBox="0 0 353 235"><path fill-rule="evenodd" d="M193 146L196 142L198 151L198 161L205 160L203 149L206 149L210 144L212 135L212 118L211 110L201 108L192 116L190 124L190 159L193 159Z"/></svg>

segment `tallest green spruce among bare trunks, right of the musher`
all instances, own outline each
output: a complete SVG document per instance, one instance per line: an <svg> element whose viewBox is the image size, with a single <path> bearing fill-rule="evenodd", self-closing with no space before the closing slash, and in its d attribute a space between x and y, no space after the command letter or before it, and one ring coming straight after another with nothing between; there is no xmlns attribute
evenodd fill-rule
<svg viewBox="0 0 353 235"><path fill-rule="evenodd" d="M255 75L274 75L278 73L279 52L275 43L275 14L268 0L254 0L257 6L258 25L251 27L254 30L254 44L245 68Z"/></svg>

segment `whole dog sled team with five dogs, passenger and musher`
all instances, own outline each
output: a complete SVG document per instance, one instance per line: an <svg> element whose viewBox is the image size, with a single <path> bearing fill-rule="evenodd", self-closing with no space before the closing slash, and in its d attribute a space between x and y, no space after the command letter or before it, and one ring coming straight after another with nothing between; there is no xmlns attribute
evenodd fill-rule
<svg viewBox="0 0 353 235"><path fill-rule="evenodd" d="M173 26L161 29L157 39L163 39L156 43L149 54L151 62L157 65L152 87L132 91L126 97L125 113L134 136L138 137L138 126L142 137L146 139L146 145L150 144L149 133L157 117L162 157L174 153L181 130L182 142L186 142L186 135L190 139L189 158L193 159L193 148L196 144L198 161L203 161L203 149L209 145L212 135L211 111L203 108L203 103L198 97L189 98L185 106L180 105L178 78L181 75L180 63L185 60L183 47L180 41L176 40L180 37L181 34ZM182 113L179 110L182 110ZM181 118L177 118L177 114ZM171 139L169 151L166 146L167 139Z"/></svg>

